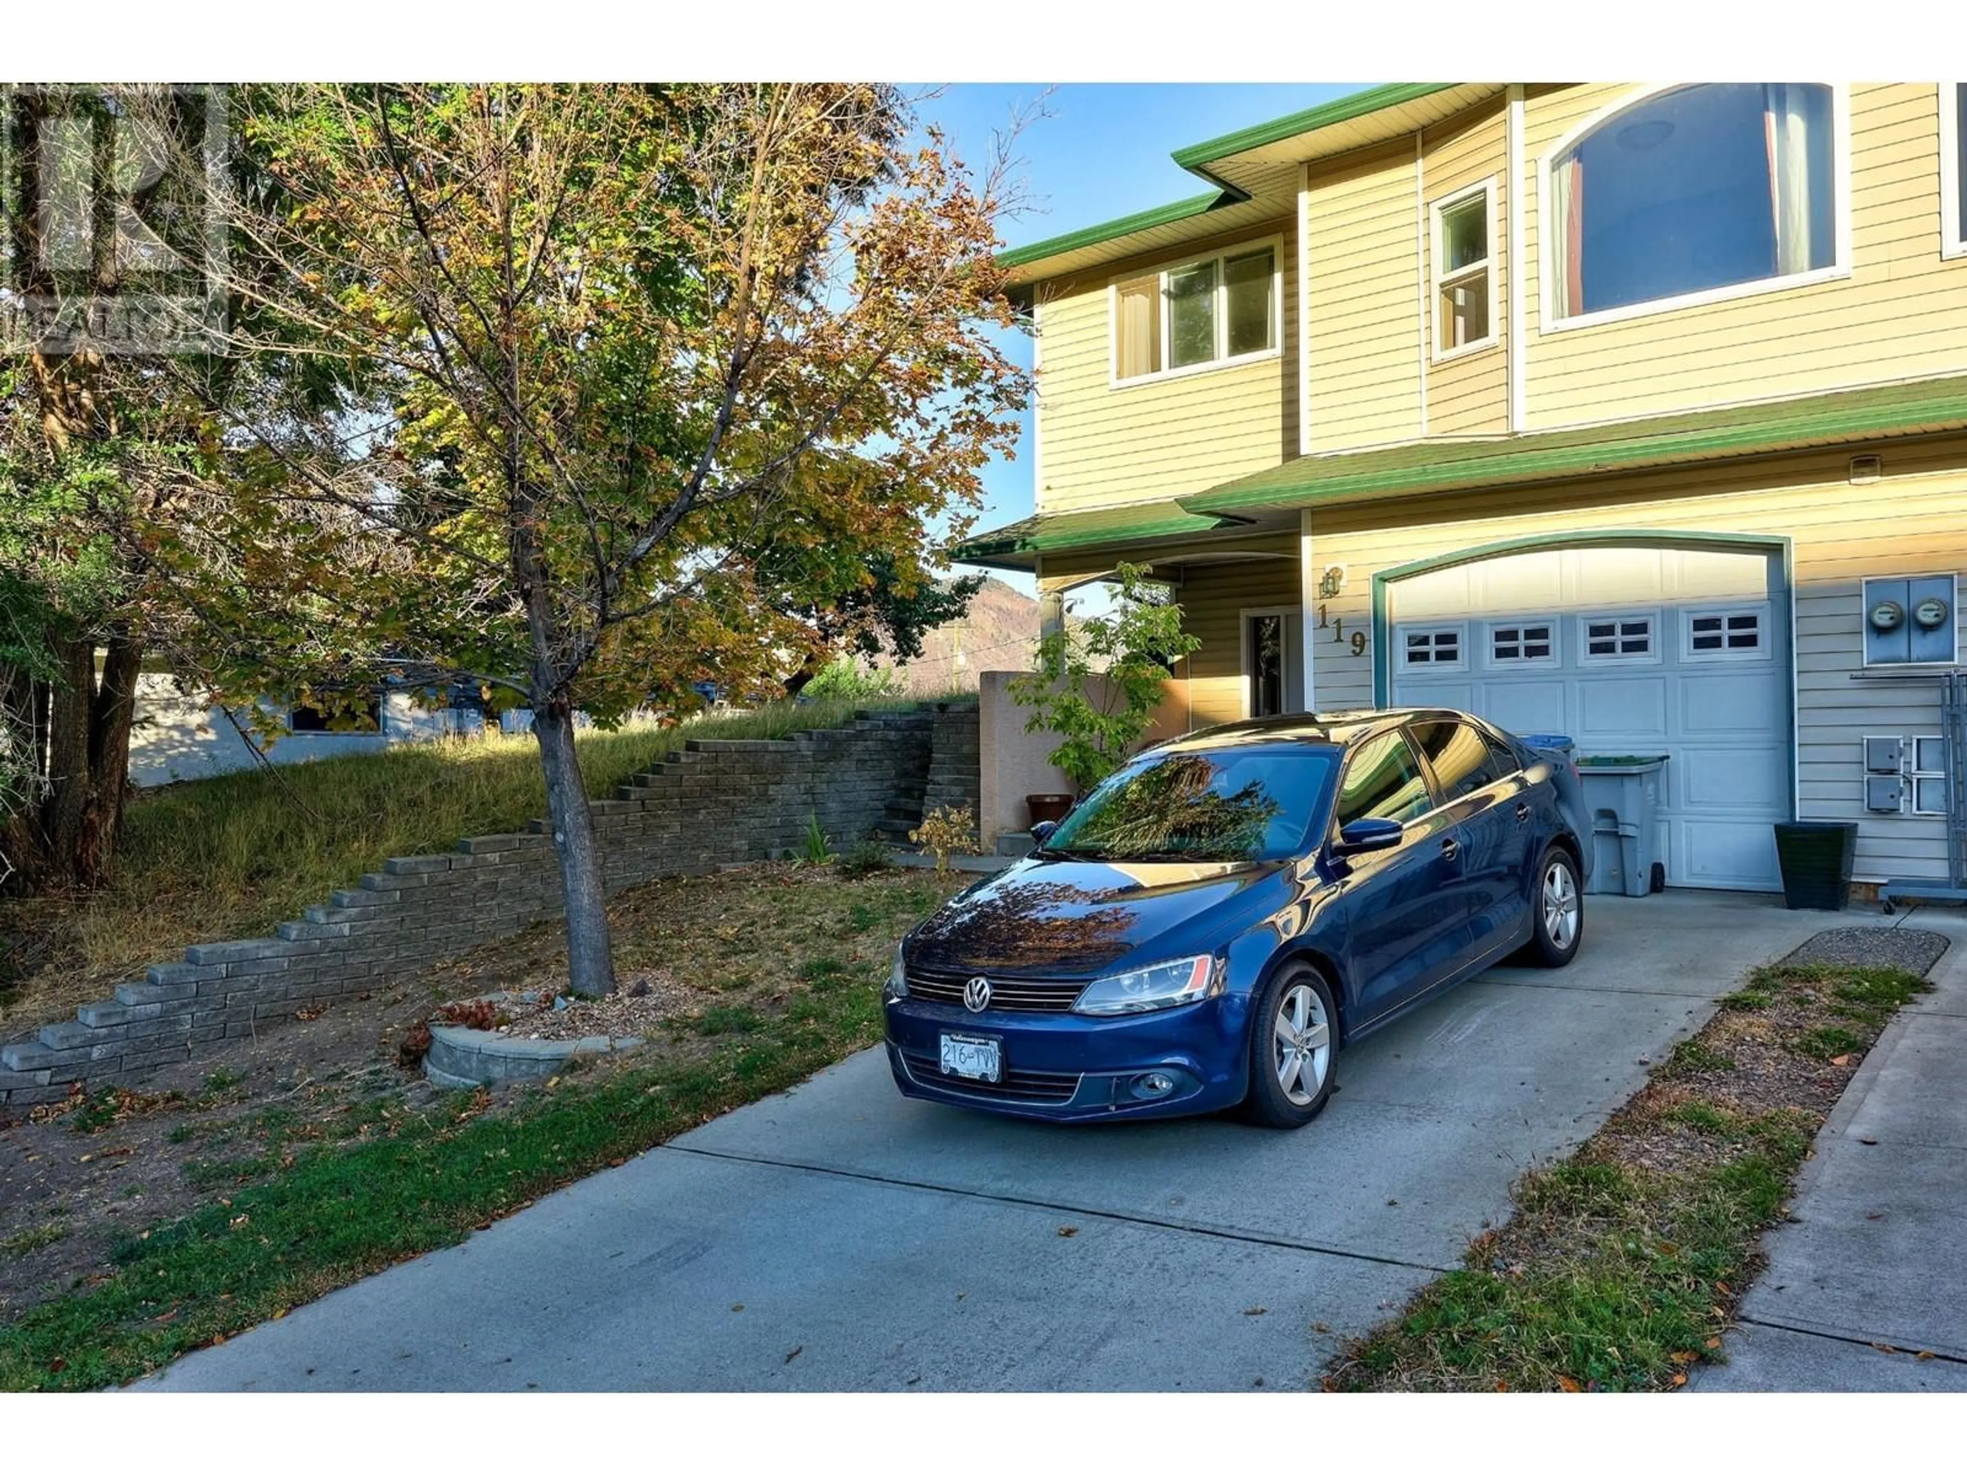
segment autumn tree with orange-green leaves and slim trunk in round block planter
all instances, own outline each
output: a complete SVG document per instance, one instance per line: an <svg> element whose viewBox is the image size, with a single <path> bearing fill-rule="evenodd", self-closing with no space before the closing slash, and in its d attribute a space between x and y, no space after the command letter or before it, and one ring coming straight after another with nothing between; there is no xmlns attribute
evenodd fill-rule
<svg viewBox="0 0 1967 1475"><path fill-rule="evenodd" d="M216 690L531 710L572 987L606 993L574 712L767 694L838 635L814 610L932 562L1025 397L1001 163L873 85L266 87L238 134L228 350L344 389L234 395L146 557Z"/></svg>

